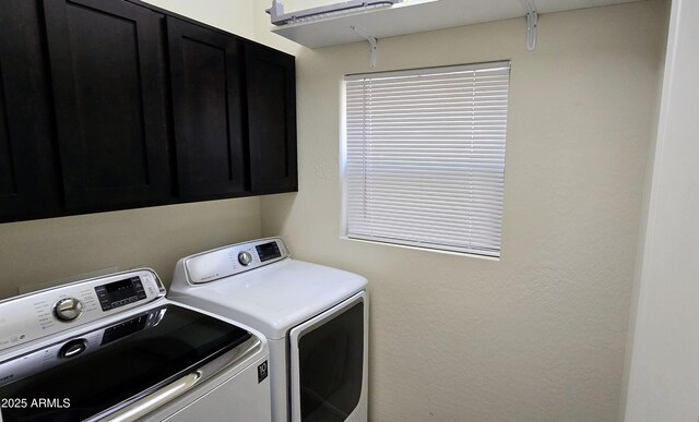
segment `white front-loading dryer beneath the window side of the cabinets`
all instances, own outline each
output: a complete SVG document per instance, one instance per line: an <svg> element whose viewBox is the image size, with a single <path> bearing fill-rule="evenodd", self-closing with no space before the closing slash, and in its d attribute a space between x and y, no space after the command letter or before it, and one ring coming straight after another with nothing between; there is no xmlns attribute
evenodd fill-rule
<svg viewBox="0 0 699 422"><path fill-rule="evenodd" d="M269 238L185 257L168 297L238 321L270 345L272 420L366 421L366 278L292 260Z"/></svg>

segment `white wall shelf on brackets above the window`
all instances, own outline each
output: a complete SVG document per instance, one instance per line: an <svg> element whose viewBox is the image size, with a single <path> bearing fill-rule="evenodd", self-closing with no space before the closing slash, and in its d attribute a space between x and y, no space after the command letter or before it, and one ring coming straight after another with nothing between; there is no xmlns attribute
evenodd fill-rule
<svg viewBox="0 0 699 422"><path fill-rule="evenodd" d="M642 0L533 0L540 14L631 1ZM299 10L299 4L304 2L289 1L291 8L284 0L282 3L288 13ZM321 1L316 1L312 5L317 7L320 3ZM322 3L333 4L337 1ZM405 0L389 8L273 27L272 31L306 47L319 48L364 40L350 28L352 25L377 38L386 38L524 15L521 0Z"/></svg>

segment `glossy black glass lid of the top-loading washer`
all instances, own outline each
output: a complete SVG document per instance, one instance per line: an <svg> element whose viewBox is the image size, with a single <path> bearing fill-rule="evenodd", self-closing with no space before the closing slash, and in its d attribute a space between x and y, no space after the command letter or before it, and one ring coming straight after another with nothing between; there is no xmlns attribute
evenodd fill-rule
<svg viewBox="0 0 699 422"><path fill-rule="evenodd" d="M73 335L70 341L0 362L0 397L26 401L1 409L0 420L102 419L249 339L258 340L240 327L177 304ZM35 369L25 367L33 363ZM38 398L54 401L32 406Z"/></svg>

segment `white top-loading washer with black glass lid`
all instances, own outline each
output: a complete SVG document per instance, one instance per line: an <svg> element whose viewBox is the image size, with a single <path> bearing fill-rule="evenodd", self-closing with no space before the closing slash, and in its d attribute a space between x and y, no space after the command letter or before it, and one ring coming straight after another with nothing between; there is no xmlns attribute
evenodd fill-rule
<svg viewBox="0 0 699 422"><path fill-rule="evenodd" d="M151 269L0 301L0 421L270 421L264 337Z"/></svg>

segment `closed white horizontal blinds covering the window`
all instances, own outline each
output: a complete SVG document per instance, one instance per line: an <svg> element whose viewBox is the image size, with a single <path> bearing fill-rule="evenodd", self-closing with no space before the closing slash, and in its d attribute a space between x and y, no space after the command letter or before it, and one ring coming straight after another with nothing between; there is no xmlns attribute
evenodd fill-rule
<svg viewBox="0 0 699 422"><path fill-rule="evenodd" d="M510 63L345 77L348 238L500 255Z"/></svg>

